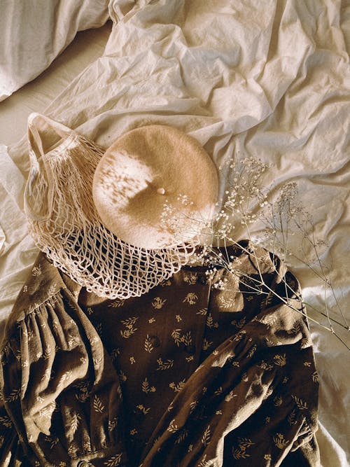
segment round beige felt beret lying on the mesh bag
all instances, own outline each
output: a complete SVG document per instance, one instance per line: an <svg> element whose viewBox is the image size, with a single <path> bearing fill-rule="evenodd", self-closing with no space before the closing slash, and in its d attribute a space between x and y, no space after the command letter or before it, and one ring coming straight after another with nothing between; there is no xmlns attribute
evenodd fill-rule
<svg viewBox="0 0 350 467"><path fill-rule="evenodd" d="M213 214L218 175L196 139L174 127L149 125L107 149L94 172L92 196L104 225L124 242L167 248L197 235L198 220ZM183 222L182 238L162 222L165 204Z"/></svg>

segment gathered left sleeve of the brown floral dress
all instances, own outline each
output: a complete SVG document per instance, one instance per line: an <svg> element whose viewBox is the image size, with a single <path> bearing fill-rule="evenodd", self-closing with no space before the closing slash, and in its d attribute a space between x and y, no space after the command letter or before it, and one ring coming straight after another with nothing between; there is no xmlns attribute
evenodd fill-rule
<svg viewBox="0 0 350 467"><path fill-rule="evenodd" d="M118 375L69 293L52 295L18 321L1 363L4 417L29 465L123 465ZM9 445L11 437L17 442L13 430L6 436Z"/></svg>

